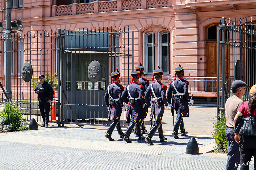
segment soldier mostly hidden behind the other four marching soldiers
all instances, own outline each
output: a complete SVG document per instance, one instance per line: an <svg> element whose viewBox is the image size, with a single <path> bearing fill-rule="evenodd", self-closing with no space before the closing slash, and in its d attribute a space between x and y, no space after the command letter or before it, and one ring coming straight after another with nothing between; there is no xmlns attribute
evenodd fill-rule
<svg viewBox="0 0 256 170"><path fill-rule="evenodd" d="M146 90L148 89L148 85L149 85L149 80L143 78L144 76L144 66L142 66L142 64L140 63L140 66L135 67L136 71L139 71L140 73L140 82L139 84L142 84L144 86L144 94L146 93ZM144 119L146 118L148 114L148 105L145 105L145 107L143 107L142 109L142 117L144 117ZM147 129L145 127L145 122L144 119L142 120L141 123L141 132L142 133L146 133Z"/></svg>

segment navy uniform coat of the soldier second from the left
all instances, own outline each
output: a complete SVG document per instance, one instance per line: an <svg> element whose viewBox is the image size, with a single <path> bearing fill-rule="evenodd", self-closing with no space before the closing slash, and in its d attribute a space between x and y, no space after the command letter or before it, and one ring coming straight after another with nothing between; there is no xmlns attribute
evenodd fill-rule
<svg viewBox="0 0 256 170"><path fill-rule="evenodd" d="M128 96L127 87L129 86L129 91L131 96ZM137 81L134 81L133 83L127 85L125 87L125 90L122 94L122 99L125 103L128 104L127 106L127 112L126 112L126 123L140 123L141 120L144 119L142 117L142 108L145 104L145 98L144 98L144 87L139 84ZM130 103L128 98L140 98L139 100L135 100L135 103ZM131 119L130 119L131 114Z"/></svg>

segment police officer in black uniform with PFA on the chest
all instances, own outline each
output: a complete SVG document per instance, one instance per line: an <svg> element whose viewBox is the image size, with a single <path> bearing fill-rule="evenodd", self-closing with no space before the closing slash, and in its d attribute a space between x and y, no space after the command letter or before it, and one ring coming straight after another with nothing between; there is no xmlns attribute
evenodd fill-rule
<svg viewBox="0 0 256 170"><path fill-rule="evenodd" d="M36 85L35 93L38 94L38 106L43 118L44 124L41 127L49 128L49 112L50 112L50 103L53 100L53 87L50 83L45 81L44 75L40 75L39 82Z"/></svg>

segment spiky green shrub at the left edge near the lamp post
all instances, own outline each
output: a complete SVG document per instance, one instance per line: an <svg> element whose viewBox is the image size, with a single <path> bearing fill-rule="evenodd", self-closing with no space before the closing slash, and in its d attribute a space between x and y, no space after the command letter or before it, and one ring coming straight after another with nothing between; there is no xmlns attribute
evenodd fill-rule
<svg viewBox="0 0 256 170"><path fill-rule="evenodd" d="M17 103L9 100L4 104L0 117L5 117L6 123L11 125L13 130L16 130L27 124L23 117L24 114L24 110Z"/></svg>

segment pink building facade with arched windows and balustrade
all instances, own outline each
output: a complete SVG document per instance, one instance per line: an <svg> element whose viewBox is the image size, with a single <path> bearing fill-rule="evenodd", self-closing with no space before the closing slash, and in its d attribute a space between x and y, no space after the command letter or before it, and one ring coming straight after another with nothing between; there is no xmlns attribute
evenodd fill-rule
<svg viewBox="0 0 256 170"><path fill-rule="evenodd" d="M0 6L0 20L5 20L5 0L0 1ZM147 79L151 80L152 71L159 65L167 85L174 78L174 69L181 64L186 78L190 73L193 95L205 97L217 96L217 27L221 18L224 17L226 22L229 18L231 22L234 18L239 22L241 18L242 24L245 18L256 20L256 4L252 0L70 0L61 3L56 0L14 0L13 7L12 20L22 18L23 32L32 35L37 31L57 31L58 28L79 30L120 26L127 29L129 25L130 31L135 32L135 66L140 62L145 66ZM25 48L32 47L27 45ZM41 55L36 55L34 60ZM38 74L55 65L54 61L48 61L49 58L40 60ZM3 72L0 74L3 77ZM13 75L13 79L17 77Z"/></svg>

